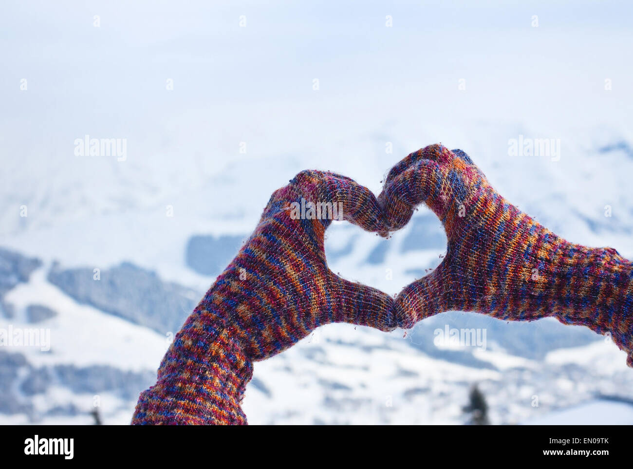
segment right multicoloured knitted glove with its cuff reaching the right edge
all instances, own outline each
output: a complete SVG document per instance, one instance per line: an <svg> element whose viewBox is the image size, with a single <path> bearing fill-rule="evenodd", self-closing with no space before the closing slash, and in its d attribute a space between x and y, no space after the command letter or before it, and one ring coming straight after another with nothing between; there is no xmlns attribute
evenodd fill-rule
<svg viewBox="0 0 633 469"><path fill-rule="evenodd" d="M615 249L553 234L499 196L467 154L441 145L394 166L379 201L391 230L427 204L448 238L442 263L396 297L399 326L449 310L517 321L555 316L610 333L633 366L633 264Z"/></svg>

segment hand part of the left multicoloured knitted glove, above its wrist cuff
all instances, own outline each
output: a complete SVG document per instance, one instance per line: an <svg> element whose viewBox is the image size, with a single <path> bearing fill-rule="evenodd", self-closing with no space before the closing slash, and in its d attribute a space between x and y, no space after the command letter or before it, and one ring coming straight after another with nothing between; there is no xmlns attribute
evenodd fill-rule
<svg viewBox="0 0 633 469"><path fill-rule="evenodd" d="M246 356L263 360L322 324L393 330L391 296L327 266L323 239L335 211L364 230L388 235L384 213L367 188L335 173L303 171L272 194L251 237L185 323L185 334L204 331L211 316L219 316Z"/></svg>

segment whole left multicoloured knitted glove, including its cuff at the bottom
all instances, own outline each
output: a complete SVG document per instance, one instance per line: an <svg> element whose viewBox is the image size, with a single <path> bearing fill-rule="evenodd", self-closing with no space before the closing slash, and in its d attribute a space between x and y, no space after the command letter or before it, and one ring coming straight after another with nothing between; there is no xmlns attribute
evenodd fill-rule
<svg viewBox="0 0 633 469"><path fill-rule="evenodd" d="M388 234L377 199L349 178L304 171L275 191L253 235L176 335L132 423L244 424L251 361L326 323L396 327L391 296L330 272L323 235L335 217Z"/></svg>

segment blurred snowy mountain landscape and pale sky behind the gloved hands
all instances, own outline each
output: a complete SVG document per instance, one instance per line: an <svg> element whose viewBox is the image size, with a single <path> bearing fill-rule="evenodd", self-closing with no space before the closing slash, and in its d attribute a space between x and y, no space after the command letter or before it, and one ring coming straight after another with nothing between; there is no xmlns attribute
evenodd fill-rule
<svg viewBox="0 0 633 469"><path fill-rule="evenodd" d="M441 142L568 241L633 259L627 2L5 1L0 6L0 423L130 422L173 335L304 169L376 194ZM77 154L122 139L123 155ZM558 152L513 154L553 139ZM334 272L390 294L441 261L420 208L385 241L327 232ZM484 346L437 345L475 330ZM633 424L615 344L459 311L336 324L255 363L249 423ZM477 394L477 393L475 393ZM476 400L476 399L475 399Z"/></svg>

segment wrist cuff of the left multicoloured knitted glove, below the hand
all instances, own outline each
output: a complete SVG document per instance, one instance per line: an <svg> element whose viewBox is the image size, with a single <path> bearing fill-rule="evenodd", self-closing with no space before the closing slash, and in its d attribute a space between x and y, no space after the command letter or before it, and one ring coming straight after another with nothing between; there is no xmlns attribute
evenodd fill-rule
<svg viewBox="0 0 633 469"><path fill-rule="evenodd" d="M223 315L199 305L187 318L139 397L133 425L245 425L241 396L253 365L225 329Z"/></svg>

